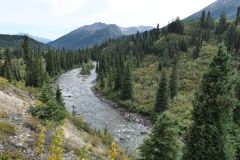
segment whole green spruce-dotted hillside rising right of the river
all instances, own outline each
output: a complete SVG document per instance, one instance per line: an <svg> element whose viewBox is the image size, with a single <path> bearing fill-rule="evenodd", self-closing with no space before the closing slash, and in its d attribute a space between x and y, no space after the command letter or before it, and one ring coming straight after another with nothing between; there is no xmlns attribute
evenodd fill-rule
<svg viewBox="0 0 240 160"><path fill-rule="evenodd" d="M155 124L142 159L239 157L239 20L203 11L99 48L97 90Z"/></svg>

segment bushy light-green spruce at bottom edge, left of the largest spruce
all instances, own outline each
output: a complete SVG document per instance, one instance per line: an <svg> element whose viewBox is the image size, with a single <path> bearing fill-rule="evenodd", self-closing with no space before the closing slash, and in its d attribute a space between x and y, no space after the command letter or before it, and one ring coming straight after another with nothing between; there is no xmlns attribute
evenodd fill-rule
<svg viewBox="0 0 240 160"><path fill-rule="evenodd" d="M180 160L182 143L174 115L164 112L140 146L142 160Z"/></svg>

